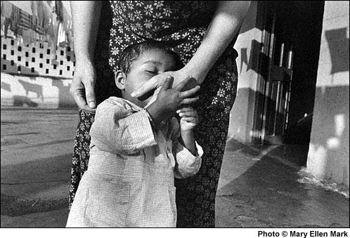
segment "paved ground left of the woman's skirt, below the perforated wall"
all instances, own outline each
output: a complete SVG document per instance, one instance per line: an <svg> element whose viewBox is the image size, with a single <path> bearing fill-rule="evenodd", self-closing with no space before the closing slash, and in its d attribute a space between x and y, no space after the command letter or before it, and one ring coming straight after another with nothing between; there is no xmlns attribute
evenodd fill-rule
<svg viewBox="0 0 350 238"><path fill-rule="evenodd" d="M1 227L64 227L77 110L1 107Z"/></svg>

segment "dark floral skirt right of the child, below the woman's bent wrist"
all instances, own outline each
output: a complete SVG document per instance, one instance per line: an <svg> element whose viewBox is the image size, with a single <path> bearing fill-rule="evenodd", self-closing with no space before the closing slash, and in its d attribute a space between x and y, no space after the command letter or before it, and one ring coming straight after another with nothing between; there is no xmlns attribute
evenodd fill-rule
<svg viewBox="0 0 350 238"><path fill-rule="evenodd" d="M237 89L236 53L226 52L209 72L195 108L200 124L195 139L203 147L202 166L195 176L176 179L177 227L214 227L215 197Z"/></svg>

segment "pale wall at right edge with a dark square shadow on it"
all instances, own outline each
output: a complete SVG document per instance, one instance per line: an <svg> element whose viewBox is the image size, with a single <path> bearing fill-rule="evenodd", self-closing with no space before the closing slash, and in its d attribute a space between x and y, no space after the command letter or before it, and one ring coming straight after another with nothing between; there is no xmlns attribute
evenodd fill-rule
<svg viewBox="0 0 350 238"><path fill-rule="evenodd" d="M325 1L307 171L349 187L349 1Z"/></svg>

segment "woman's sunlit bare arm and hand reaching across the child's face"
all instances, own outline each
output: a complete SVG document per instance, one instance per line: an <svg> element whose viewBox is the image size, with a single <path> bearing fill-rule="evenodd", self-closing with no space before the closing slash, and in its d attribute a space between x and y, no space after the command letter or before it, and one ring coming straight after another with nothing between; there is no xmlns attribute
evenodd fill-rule
<svg viewBox="0 0 350 238"><path fill-rule="evenodd" d="M169 74L174 77L174 85L189 76L197 79L198 84L202 84L216 60L238 34L249 5L250 1L220 1L202 44L188 64L176 72L158 74L131 95L138 98L153 88L162 86Z"/></svg>

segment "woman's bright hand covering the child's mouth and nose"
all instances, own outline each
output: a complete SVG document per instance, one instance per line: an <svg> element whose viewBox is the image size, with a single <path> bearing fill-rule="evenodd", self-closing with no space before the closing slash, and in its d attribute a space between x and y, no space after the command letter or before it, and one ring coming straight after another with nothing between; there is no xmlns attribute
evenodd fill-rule
<svg viewBox="0 0 350 238"><path fill-rule="evenodd" d="M172 78L174 78L174 81L172 83L173 88L175 88L185 79L191 77L190 74L186 73L184 70L168 71L162 74L157 74L155 77L152 77L150 80L145 82L145 84L141 85L138 89L136 89L136 91L131 93L131 96L134 98L140 98L145 93L148 93L153 89L161 87L166 81L167 77L169 77L169 75Z"/></svg>

